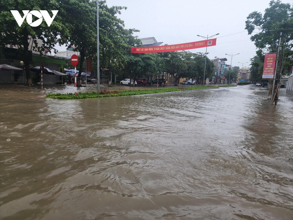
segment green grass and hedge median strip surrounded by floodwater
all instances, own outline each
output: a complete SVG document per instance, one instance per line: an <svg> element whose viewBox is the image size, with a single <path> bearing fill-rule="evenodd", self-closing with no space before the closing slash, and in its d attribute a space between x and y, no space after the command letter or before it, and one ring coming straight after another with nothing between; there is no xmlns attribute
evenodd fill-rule
<svg viewBox="0 0 293 220"><path fill-rule="evenodd" d="M207 88L216 88L218 86L205 86L204 89ZM187 91L187 90L195 90L195 89L203 89L202 87L183 87L183 88L158 88L158 89L137 89L137 90L119 90L119 91L101 91L100 93L105 94L97 94L97 92L78 92L75 96L74 93L52 93L47 94L47 98L51 99L93 99L93 98L105 98L105 97L118 97L118 96L133 96L133 95L145 95L145 94L154 94L154 93L165 93L165 92L178 92L178 91ZM110 93L110 94L109 94Z"/></svg>

